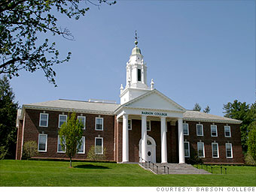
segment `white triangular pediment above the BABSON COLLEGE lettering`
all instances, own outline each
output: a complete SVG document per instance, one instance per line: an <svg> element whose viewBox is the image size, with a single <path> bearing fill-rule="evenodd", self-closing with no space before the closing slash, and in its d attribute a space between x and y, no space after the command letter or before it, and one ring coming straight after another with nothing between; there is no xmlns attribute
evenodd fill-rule
<svg viewBox="0 0 256 192"><path fill-rule="evenodd" d="M157 91L157 89L147 92L144 95L123 104L123 106L151 110L185 111L183 107L176 104L175 101L172 101L170 98L167 98L161 92Z"/></svg>

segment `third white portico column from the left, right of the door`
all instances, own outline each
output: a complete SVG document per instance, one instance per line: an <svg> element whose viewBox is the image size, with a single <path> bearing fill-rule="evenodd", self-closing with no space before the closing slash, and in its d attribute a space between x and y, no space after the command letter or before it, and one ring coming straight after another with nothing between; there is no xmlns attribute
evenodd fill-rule
<svg viewBox="0 0 256 192"><path fill-rule="evenodd" d="M167 163L166 118L161 117L161 163Z"/></svg>

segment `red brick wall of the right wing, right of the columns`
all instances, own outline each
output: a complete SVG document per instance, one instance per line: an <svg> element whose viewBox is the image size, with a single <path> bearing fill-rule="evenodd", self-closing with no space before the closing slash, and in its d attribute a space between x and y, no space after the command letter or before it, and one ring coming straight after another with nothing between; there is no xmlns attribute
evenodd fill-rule
<svg viewBox="0 0 256 192"><path fill-rule="evenodd" d="M189 125L189 136L184 136L190 142L190 157L193 154L197 154L197 142L204 142L205 145L205 157L203 161L205 163L243 163L242 146L241 146L241 132L239 124L228 124L230 126L231 137L224 136L224 126L227 124L215 123L217 125L218 136L211 136L211 124L210 122L201 122L203 124L203 136L197 136L198 121L186 121ZM212 142L218 142L219 157L212 158ZM233 158L226 157L225 143L232 143Z"/></svg>

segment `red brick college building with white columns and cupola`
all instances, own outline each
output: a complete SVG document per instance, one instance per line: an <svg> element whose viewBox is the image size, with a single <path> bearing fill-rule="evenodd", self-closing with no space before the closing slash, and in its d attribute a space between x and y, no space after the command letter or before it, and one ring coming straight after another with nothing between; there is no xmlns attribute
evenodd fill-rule
<svg viewBox="0 0 256 192"><path fill-rule="evenodd" d="M107 159L117 162L184 163L198 155L205 163L243 163L241 121L185 110L154 89L153 79L148 86L147 65L137 43L126 63L120 104L70 100L24 104L17 113L16 158L22 158L23 144L29 140L38 143L38 157L66 157L58 130L75 111L84 124L77 159L86 159L95 145L96 153L105 147Z"/></svg>

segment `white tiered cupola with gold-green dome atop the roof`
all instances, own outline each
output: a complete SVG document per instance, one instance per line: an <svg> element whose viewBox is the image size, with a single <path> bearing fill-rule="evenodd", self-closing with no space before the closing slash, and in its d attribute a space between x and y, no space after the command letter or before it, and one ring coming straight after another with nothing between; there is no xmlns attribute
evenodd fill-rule
<svg viewBox="0 0 256 192"><path fill-rule="evenodd" d="M137 37L129 61L126 63L126 86L120 89L120 104L125 104L151 90L147 83L147 65L139 49Z"/></svg>

